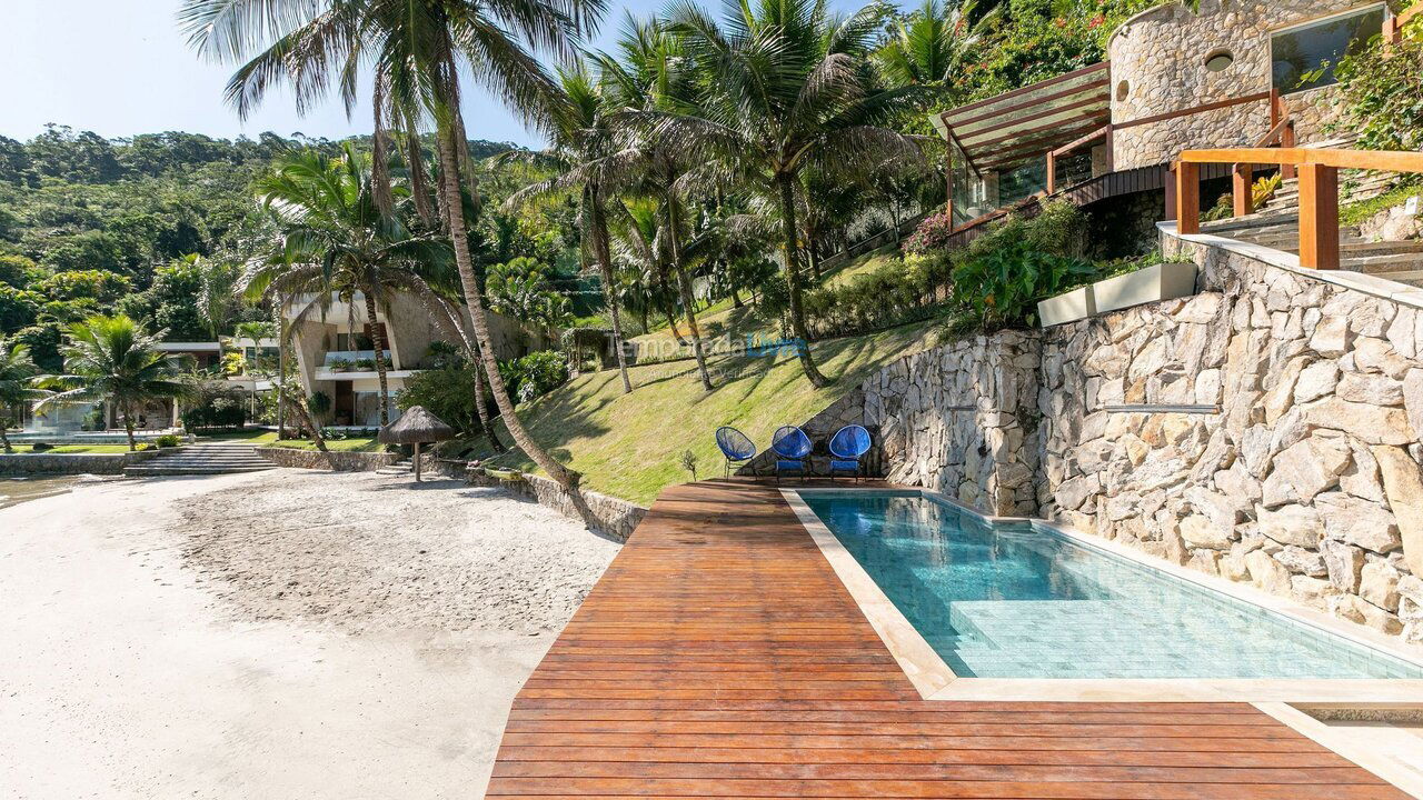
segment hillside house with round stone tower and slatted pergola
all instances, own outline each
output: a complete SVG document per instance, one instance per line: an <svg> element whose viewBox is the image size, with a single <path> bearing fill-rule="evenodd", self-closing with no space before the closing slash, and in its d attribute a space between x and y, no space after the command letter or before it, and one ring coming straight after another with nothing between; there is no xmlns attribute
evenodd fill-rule
<svg viewBox="0 0 1423 800"><path fill-rule="evenodd" d="M1143 11L1111 34L1107 61L932 117L948 144L955 228L972 238L1033 198L1091 205L1161 189L1187 148L1321 144L1333 64L1389 20L1385 3L1350 0Z"/></svg>

